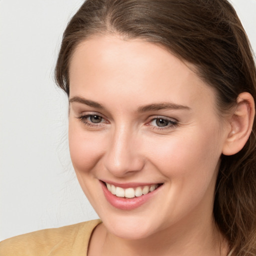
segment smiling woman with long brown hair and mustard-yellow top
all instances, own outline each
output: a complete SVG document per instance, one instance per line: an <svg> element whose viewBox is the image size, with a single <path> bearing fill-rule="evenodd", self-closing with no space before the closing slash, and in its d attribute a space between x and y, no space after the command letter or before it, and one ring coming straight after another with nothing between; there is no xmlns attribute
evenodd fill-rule
<svg viewBox="0 0 256 256"><path fill-rule="evenodd" d="M0 255L256 254L256 72L226 0L87 0L55 77L101 220L7 239Z"/></svg>

